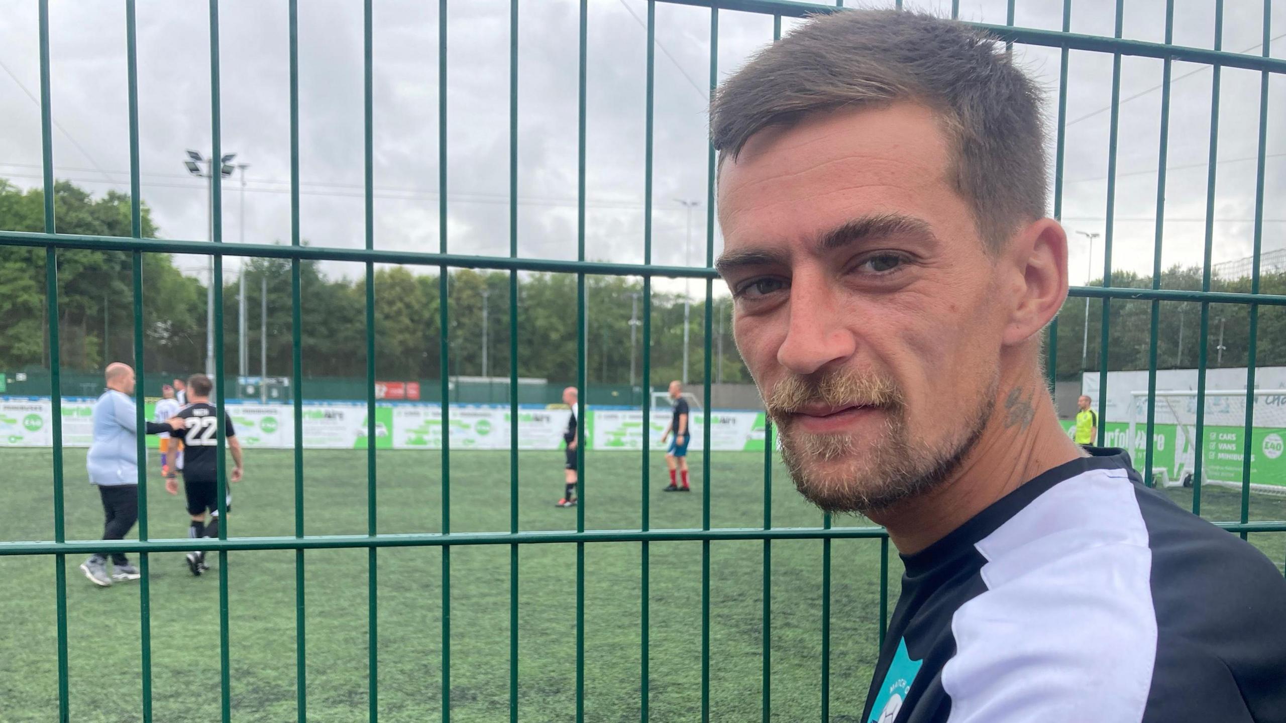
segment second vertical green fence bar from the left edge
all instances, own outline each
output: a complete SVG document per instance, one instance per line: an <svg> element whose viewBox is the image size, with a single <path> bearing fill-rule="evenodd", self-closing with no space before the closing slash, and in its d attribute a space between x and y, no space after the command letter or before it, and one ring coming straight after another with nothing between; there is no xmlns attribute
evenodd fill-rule
<svg viewBox="0 0 1286 723"><path fill-rule="evenodd" d="M143 238L143 201L139 180L139 66L134 0L125 0L125 67L130 107L130 235ZM139 459L139 540L148 539L148 466L147 436L143 434L143 408L147 374L143 349L143 252L131 253L134 284L134 365L138 371L134 428ZM143 723L152 722L152 576L147 552L139 553L139 646L141 647L140 678L143 687Z"/></svg>

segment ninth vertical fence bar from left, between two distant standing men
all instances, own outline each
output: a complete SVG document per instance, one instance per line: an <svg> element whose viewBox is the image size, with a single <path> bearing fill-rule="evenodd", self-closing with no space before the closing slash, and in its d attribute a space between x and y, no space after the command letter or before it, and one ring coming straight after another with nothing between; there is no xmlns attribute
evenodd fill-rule
<svg viewBox="0 0 1286 723"><path fill-rule="evenodd" d="M652 264L652 133L653 93L656 89L656 0L647 1L647 81L643 118L643 264ZM643 470L639 490L640 529L652 529L651 453L652 453L652 277L643 275ZM633 390L630 390L633 394ZM648 722L651 699L651 551L639 543L639 720Z"/></svg>

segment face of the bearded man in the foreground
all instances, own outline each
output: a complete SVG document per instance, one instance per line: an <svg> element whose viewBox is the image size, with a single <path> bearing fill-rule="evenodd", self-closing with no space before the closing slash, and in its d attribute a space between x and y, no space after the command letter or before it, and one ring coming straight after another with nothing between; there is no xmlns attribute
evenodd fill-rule
<svg viewBox="0 0 1286 723"><path fill-rule="evenodd" d="M737 346L796 486L824 509L934 486L990 417L1007 318L948 162L910 103L769 129L724 161Z"/></svg>

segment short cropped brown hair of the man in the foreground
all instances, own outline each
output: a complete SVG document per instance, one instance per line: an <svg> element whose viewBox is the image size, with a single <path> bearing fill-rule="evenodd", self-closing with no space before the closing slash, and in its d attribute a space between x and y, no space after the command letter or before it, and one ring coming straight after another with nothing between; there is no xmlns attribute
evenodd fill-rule
<svg viewBox="0 0 1286 723"><path fill-rule="evenodd" d="M750 136L819 112L919 103L948 138L948 181L995 251L1044 216L1042 94L1004 46L970 26L905 10L814 15L729 77L711 103L719 162Z"/></svg>

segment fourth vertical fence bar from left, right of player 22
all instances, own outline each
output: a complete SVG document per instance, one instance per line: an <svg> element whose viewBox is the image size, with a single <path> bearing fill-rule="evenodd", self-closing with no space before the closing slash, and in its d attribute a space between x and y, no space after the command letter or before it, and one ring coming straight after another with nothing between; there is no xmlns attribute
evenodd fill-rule
<svg viewBox="0 0 1286 723"><path fill-rule="evenodd" d="M300 246L300 6L289 0L291 54L291 246ZM300 260L291 259L291 389L294 412L294 536L303 536L303 331ZM307 623L303 551L294 551L294 708L307 722Z"/></svg>

